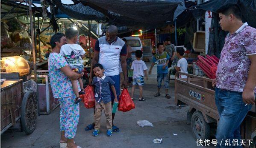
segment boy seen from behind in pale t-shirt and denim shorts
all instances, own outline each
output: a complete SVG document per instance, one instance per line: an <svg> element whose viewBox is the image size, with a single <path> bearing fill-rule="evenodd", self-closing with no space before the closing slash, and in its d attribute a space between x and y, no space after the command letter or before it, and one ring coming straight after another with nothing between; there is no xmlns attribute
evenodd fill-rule
<svg viewBox="0 0 256 148"><path fill-rule="evenodd" d="M138 87L140 89L139 101L145 101L145 99L142 97L142 91L143 91L143 86L144 86L144 74L145 74L146 80L148 80L147 66L146 66L145 62L141 60L141 57L142 57L141 50L136 50L135 56L136 56L136 60L134 60L132 62L132 67L131 67L131 69L133 69L131 97L133 100L133 93L134 93L136 85L138 85Z"/></svg>

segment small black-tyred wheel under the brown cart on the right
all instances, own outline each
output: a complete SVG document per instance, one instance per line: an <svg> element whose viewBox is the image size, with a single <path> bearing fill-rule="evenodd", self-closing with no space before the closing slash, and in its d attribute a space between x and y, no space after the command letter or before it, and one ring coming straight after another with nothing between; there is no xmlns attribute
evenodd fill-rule
<svg viewBox="0 0 256 148"><path fill-rule="evenodd" d="M195 111L191 118L191 128L195 139L209 139L210 125L204 120L200 111Z"/></svg>

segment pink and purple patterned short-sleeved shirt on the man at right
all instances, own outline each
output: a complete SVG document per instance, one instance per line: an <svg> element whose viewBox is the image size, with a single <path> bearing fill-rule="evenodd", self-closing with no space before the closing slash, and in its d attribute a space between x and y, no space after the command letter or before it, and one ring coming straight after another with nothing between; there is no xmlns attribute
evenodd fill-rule
<svg viewBox="0 0 256 148"><path fill-rule="evenodd" d="M244 23L225 38L216 72L216 86L243 92L251 64L248 55L253 54L256 54L256 29Z"/></svg>

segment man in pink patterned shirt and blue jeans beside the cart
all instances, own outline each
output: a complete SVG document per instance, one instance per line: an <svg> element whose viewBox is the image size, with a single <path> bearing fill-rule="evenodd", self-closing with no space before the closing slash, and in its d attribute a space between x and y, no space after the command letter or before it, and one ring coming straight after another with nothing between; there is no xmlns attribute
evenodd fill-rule
<svg viewBox="0 0 256 148"><path fill-rule="evenodd" d="M215 103L220 116L216 139L219 147L226 148L224 140L240 141L241 122L255 104L256 29L242 23L237 5L223 6L218 13L222 30L229 34L212 85L216 85Z"/></svg>

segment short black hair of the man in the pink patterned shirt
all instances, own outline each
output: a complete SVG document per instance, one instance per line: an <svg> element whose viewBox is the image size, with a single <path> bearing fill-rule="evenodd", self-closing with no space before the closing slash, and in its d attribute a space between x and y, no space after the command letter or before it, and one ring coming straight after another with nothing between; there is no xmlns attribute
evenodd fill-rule
<svg viewBox="0 0 256 148"><path fill-rule="evenodd" d="M217 13L222 13L226 16L233 14L236 18L240 19L242 18L241 9L237 4L227 4L222 6L217 10Z"/></svg>

